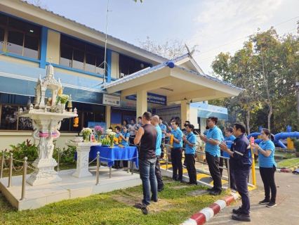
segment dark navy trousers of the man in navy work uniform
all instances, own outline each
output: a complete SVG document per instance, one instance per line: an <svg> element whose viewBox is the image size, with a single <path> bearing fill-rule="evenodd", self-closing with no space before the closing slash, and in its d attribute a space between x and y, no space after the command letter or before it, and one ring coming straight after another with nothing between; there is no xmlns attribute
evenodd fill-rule
<svg viewBox="0 0 299 225"><path fill-rule="evenodd" d="M248 192L248 176L250 169L239 170L234 169L234 180L236 182L237 191L241 195L242 206L241 209L244 214L249 215L250 212L250 199Z"/></svg>

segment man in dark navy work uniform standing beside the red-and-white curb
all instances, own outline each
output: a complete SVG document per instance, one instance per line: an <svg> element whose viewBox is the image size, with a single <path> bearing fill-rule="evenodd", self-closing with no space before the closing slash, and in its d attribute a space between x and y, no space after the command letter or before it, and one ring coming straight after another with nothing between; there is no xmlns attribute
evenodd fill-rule
<svg viewBox="0 0 299 225"><path fill-rule="evenodd" d="M230 154L230 167L234 172L237 191L241 195L242 205L237 210L232 210L236 215L232 215L232 219L238 221L251 221L250 199L248 192L248 176L251 170L252 155L251 146L245 135L246 127L244 123L234 124L234 136L236 139L232 142L230 149L224 141L220 143L220 148L223 152Z"/></svg>

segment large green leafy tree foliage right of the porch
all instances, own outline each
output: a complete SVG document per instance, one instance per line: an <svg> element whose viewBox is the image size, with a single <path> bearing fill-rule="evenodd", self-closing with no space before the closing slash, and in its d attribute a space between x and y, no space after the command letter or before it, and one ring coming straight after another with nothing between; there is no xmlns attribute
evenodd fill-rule
<svg viewBox="0 0 299 225"><path fill-rule="evenodd" d="M220 53L213 60L215 76L246 91L209 103L227 107L228 125L246 123L248 133L267 127L273 133L291 125L298 129L295 77L299 72L299 38L279 37L272 27L253 34L234 56Z"/></svg>

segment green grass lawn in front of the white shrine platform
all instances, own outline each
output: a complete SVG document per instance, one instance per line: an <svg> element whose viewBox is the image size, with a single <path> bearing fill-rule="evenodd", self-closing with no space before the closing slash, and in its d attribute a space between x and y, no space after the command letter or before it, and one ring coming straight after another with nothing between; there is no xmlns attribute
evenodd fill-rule
<svg viewBox="0 0 299 225"><path fill-rule="evenodd" d="M76 165L60 168L72 169ZM189 191L206 189L204 186L188 186L164 177L164 191L159 193L158 203L150 205L149 214L132 207L142 199L142 186L87 198L63 200L36 210L16 211L0 194L0 224L181 224L195 212L208 207L227 195L188 195Z"/></svg>

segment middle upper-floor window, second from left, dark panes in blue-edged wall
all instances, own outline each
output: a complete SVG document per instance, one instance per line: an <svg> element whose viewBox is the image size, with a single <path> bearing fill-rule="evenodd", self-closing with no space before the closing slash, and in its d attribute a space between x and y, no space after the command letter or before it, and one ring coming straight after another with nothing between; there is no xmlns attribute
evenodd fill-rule
<svg viewBox="0 0 299 225"><path fill-rule="evenodd" d="M60 36L60 65L103 75L104 58L104 49L72 37Z"/></svg>

